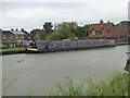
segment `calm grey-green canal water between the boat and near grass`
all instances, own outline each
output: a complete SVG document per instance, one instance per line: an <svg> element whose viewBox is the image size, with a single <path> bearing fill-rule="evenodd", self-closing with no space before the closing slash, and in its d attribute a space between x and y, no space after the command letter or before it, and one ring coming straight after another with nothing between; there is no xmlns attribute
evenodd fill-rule
<svg viewBox="0 0 130 98"><path fill-rule="evenodd" d="M123 72L128 46L38 54L2 57L3 96L47 96L55 85L107 79L115 71Z"/></svg>

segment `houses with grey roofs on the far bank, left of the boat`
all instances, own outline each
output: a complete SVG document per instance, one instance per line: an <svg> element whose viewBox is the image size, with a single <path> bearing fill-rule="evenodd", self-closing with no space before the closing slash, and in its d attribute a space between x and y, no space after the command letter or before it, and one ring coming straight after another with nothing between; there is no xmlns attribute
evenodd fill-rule
<svg viewBox="0 0 130 98"><path fill-rule="evenodd" d="M11 30L2 30L0 34L1 37L1 44L8 45L8 46L25 46L28 38L29 34L27 32L25 33L24 29L11 29Z"/></svg>

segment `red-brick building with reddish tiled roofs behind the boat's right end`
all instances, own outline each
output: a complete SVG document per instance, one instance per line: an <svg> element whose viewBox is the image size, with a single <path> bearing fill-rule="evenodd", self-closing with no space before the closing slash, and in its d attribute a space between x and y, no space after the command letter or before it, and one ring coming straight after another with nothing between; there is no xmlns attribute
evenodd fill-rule
<svg viewBox="0 0 130 98"><path fill-rule="evenodd" d="M128 25L126 22L120 22L114 25L109 21L104 23L103 20L99 24L90 24L88 29L88 39L116 39L117 41L127 41Z"/></svg>

